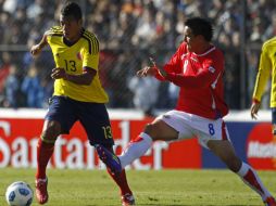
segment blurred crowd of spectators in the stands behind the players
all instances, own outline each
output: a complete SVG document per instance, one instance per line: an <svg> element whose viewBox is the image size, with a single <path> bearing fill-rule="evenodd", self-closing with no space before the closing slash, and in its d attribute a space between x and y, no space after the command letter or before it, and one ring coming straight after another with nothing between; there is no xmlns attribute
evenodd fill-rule
<svg viewBox="0 0 276 206"><path fill-rule="evenodd" d="M226 57L225 95L230 108L248 107L262 42L276 35L275 0L79 0L85 27L100 40L100 72L108 107L175 105L178 88L135 73L164 64L183 40L187 17L214 25L214 43ZM59 24L61 0L0 0L0 106L47 107L54 67L49 49L36 59L29 48ZM242 89L243 88L243 89ZM243 100L243 101L241 101ZM241 103L243 102L243 104Z"/></svg>

